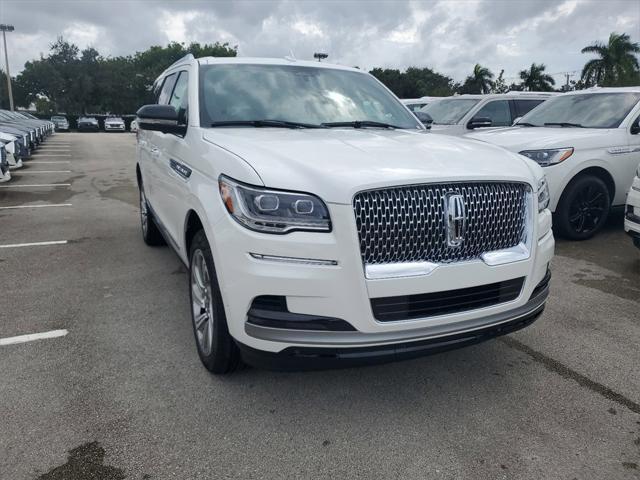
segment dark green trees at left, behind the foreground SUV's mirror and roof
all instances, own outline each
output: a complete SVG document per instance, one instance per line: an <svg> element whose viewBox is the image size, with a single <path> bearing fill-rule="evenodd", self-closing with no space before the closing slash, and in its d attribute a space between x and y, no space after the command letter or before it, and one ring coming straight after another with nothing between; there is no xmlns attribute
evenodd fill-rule
<svg viewBox="0 0 640 480"><path fill-rule="evenodd" d="M149 102L158 75L187 53L232 57L236 51L227 43L173 42L130 56L103 57L95 48L80 51L59 37L48 56L25 64L15 79L14 100L20 107L35 103L39 113L133 113Z"/></svg>

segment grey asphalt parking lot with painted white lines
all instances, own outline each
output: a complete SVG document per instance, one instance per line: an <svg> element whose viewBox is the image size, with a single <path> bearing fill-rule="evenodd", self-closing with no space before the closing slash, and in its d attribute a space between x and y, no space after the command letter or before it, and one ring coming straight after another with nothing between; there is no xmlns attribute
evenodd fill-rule
<svg viewBox="0 0 640 480"><path fill-rule="evenodd" d="M640 251L620 214L558 242L524 331L214 377L185 268L142 242L134 172L131 134L57 134L0 188L0 339L68 331L0 344L1 479L639 478Z"/></svg>

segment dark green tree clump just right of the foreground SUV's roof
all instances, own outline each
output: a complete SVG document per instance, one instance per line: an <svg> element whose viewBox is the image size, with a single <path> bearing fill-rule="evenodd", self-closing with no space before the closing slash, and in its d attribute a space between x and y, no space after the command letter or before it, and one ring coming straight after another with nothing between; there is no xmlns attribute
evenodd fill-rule
<svg viewBox="0 0 640 480"><path fill-rule="evenodd" d="M369 73L400 98L445 97L453 95L456 88L451 78L430 68L409 67L404 72L374 68Z"/></svg>

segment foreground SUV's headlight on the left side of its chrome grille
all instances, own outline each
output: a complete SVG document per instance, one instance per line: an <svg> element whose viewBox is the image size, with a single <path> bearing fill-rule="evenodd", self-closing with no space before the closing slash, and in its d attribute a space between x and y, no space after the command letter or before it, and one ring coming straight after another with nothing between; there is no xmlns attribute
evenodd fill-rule
<svg viewBox="0 0 640 480"><path fill-rule="evenodd" d="M220 176L218 185L227 211L251 230L264 233L331 231L329 211L316 196L244 185L224 175Z"/></svg>

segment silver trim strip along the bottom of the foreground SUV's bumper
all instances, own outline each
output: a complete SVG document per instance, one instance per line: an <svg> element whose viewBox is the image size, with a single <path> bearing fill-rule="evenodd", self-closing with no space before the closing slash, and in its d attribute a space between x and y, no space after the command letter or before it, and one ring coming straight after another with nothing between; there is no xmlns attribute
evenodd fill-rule
<svg viewBox="0 0 640 480"><path fill-rule="evenodd" d="M501 323L517 320L535 314L544 308L549 295L549 288L542 290L535 298L529 300L521 307L496 313L493 315L474 318L461 322L452 322L445 325L429 326L411 330L393 332L363 333L355 332L320 332L304 330L288 330L281 328L262 327L246 323L244 331L247 335L267 340L270 342L282 342L293 345L320 345L338 347L359 347L393 344L407 341L420 341L431 338L447 337L459 333L471 332L486 327L497 326Z"/></svg>

